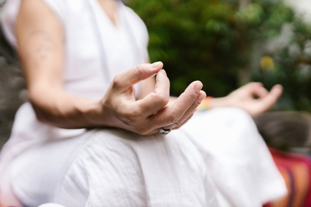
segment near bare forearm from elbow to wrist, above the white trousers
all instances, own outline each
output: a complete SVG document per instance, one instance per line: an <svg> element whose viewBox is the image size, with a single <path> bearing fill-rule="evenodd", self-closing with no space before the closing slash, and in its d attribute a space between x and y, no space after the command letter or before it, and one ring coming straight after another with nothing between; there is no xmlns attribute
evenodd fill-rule
<svg viewBox="0 0 311 207"><path fill-rule="evenodd" d="M30 102L38 119L61 128L86 128L105 125L100 101L83 99L62 90L30 91Z"/></svg>

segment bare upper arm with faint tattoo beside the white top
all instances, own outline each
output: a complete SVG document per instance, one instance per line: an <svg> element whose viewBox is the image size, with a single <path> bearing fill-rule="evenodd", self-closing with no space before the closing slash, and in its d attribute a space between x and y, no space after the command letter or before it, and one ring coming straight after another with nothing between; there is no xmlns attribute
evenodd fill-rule
<svg viewBox="0 0 311 207"><path fill-rule="evenodd" d="M63 28L42 0L23 0L16 20L16 39L27 87L35 97L60 89L63 77Z"/></svg>

